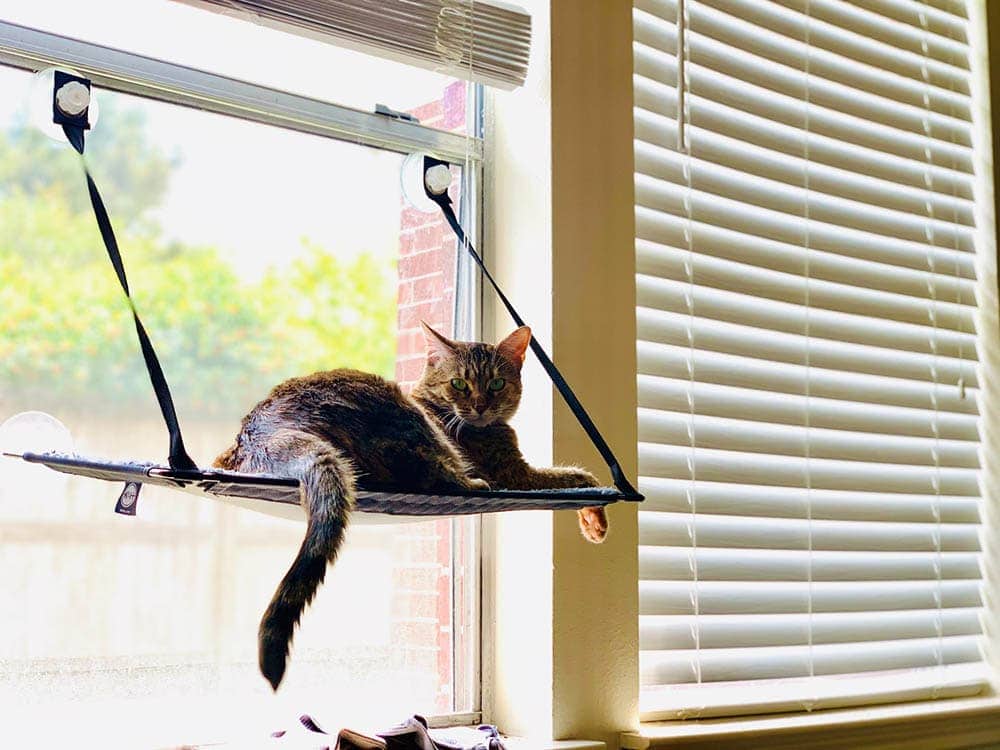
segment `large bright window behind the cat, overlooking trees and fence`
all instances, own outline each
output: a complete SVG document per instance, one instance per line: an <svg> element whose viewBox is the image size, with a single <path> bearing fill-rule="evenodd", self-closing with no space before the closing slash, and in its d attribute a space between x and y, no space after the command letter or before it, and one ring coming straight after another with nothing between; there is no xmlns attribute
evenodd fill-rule
<svg viewBox="0 0 1000 750"><path fill-rule="evenodd" d="M41 410L81 453L165 452L79 165L25 121L31 75L19 67L65 61L100 84L88 158L199 463L286 377L352 366L412 381L420 318L476 333L471 274L443 221L406 207L399 173L408 150L436 144L461 163L472 149L455 194L475 215L478 87L399 65L393 81L382 61L355 55L349 85L370 83L365 109L377 97L417 127L142 57L127 14L100 27L131 39L125 55L48 33L74 35L66 10L15 3L0 19L0 421ZM346 80L329 82L329 98ZM183 106L192 82L200 95L216 87L200 109ZM275 110L241 117L249 96ZM289 127L269 124L293 109L305 114ZM365 127L346 130L354 121ZM303 712L363 726L477 716L475 519L359 519L273 696L257 673L257 622L301 524L152 487L130 519L111 512L113 485L8 461L3 477L0 699L22 727L57 715L104 733L113 716L116 739L146 746L260 736Z"/></svg>

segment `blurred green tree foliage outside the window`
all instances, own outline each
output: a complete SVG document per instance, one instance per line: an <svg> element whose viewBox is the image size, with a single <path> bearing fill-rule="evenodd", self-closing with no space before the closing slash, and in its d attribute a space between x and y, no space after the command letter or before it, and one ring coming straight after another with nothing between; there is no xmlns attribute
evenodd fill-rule
<svg viewBox="0 0 1000 750"><path fill-rule="evenodd" d="M238 415L272 385L319 369L391 374L391 268L304 240L295 260L252 280L213 247L168 242L149 217L177 162L150 144L141 112L104 102L98 132L114 139L98 150L95 137L91 160L182 416ZM4 411L154 403L74 160L23 127L0 132Z"/></svg>

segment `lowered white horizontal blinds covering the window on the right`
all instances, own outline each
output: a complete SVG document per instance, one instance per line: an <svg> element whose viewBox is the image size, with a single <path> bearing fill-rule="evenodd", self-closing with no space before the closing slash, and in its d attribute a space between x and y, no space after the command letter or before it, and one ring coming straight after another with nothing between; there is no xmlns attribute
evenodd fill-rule
<svg viewBox="0 0 1000 750"><path fill-rule="evenodd" d="M636 0L645 718L970 694L959 0Z"/></svg>

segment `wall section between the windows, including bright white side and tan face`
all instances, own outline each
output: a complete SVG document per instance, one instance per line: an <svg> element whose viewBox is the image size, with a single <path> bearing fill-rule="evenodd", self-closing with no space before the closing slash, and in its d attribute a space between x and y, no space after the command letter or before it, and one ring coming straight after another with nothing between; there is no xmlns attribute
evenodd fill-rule
<svg viewBox="0 0 1000 750"><path fill-rule="evenodd" d="M631 2L534 0L527 85L488 120L486 246L626 473L636 470ZM492 302L486 294L487 307ZM506 331L502 314L487 331ZM536 462L607 471L534 367L519 433ZM492 521L485 709L504 731L617 743L638 724L636 507L585 543L575 514Z"/></svg>

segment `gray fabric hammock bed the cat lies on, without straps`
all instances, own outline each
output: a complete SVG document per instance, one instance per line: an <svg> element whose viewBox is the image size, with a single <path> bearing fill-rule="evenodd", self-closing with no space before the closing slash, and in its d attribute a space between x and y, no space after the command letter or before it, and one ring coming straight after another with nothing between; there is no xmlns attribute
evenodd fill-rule
<svg viewBox="0 0 1000 750"><path fill-rule="evenodd" d="M42 464L64 474L103 479L108 482L134 482L185 490L216 498L235 498L238 505L270 515L300 516L299 482L268 474L243 474L223 469L177 470L154 463L113 462L60 453L23 453L29 463ZM413 494L391 489L359 487L354 509L361 513L388 516L463 516L498 513L508 510L574 510L604 506L620 500L614 487L585 487L568 490L467 490L447 495ZM251 501L251 502L246 502ZM277 508L262 507L282 503Z"/></svg>

